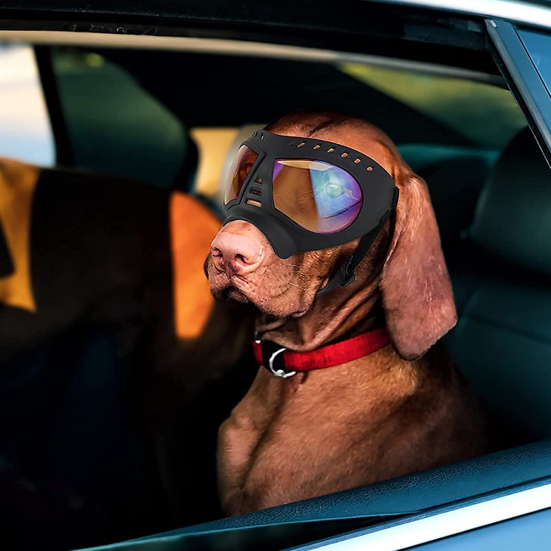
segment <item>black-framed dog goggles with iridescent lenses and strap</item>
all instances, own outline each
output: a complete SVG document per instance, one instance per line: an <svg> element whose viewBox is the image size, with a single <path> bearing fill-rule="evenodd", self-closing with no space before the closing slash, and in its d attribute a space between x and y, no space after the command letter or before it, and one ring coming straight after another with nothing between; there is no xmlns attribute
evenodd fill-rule
<svg viewBox="0 0 551 551"><path fill-rule="evenodd" d="M393 178L355 149L256 130L242 142L231 165L224 223L246 220L255 225L280 258L361 237L352 273L346 275L349 284L397 200Z"/></svg>

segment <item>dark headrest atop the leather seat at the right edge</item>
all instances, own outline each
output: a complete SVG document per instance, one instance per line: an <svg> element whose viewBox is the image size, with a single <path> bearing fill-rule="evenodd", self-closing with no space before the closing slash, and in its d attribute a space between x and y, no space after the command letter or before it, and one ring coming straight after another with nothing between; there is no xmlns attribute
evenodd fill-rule
<svg viewBox="0 0 551 551"><path fill-rule="evenodd" d="M551 171L528 127L499 156L468 237L504 260L551 274Z"/></svg>

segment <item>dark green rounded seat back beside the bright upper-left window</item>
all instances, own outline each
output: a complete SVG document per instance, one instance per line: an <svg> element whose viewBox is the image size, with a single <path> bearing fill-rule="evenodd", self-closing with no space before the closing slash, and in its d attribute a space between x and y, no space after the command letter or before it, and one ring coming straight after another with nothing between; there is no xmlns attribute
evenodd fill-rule
<svg viewBox="0 0 551 551"><path fill-rule="evenodd" d="M74 167L190 191L197 150L183 121L107 56L50 55Z"/></svg>

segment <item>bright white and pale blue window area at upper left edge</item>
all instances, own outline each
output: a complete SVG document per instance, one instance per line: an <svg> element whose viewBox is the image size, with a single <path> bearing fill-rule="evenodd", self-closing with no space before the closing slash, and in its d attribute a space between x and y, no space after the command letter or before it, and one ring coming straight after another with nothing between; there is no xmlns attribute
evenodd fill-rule
<svg viewBox="0 0 551 551"><path fill-rule="evenodd" d="M55 144L30 46L0 43L0 155L51 166Z"/></svg>

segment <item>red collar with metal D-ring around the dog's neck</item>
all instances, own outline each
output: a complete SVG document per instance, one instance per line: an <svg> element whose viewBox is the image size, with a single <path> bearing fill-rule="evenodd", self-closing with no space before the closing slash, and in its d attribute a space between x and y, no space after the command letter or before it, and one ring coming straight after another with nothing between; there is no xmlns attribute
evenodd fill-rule
<svg viewBox="0 0 551 551"><path fill-rule="evenodd" d="M387 344L391 337L386 327L377 327L351 339L328 344L310 352L291 352L269 340L253 342L256 361L278 377L291 377L297 371L311 371L346 364L369 355Z"/></svg>

